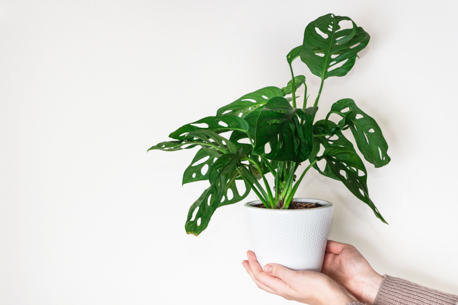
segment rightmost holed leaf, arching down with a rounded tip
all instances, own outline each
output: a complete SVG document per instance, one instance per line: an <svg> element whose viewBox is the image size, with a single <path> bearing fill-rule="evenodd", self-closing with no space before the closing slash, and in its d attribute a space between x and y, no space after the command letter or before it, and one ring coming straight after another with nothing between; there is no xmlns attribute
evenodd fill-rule
<svg viewBox="0 0 458 305"><path fill-rule="evenodd" d="M367 161L374 164L375 167L382 167L390 162L391 158L387 154L388 144L383 137L382 130L373 118L356 106L354 100L338 100L331 107L331 111L343 116L342 121L347 116L349 117L351 121L349 126L356 145Z"/></svg>

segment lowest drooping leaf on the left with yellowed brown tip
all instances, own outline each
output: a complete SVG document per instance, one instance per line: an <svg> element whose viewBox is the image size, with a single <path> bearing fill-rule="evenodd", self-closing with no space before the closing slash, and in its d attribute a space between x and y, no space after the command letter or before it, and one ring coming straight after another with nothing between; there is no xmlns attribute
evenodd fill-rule
<svg viewBox="0 0 458 305"><path fill-rule="evenodd" d="M235 203L234 200L225 199L227 199L226 196L229 189L234 195L233 190L236 189L236 186L231 186L231 184L235 183L234 172L236 172L241 156L242 153L225 154L213 163L209 170L210 187L202 193L189 209L185 224L188 234L199 235L208 226L210 218L218 207ZM249 192L248 188L245 189L245 193ZM245 193L239 195L237 192L237 199L242 200L245 198L248 195Z"/></svg>

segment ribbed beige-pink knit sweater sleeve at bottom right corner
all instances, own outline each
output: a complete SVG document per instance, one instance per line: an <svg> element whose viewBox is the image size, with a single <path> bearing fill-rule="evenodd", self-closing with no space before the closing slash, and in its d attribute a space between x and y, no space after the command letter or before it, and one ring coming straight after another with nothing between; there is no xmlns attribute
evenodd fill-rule
<svg viewBox="0 0 458 305"><path fill-rule="evenodd" d="M375 305L457 305L458 296L384 275Z"/></svg>

